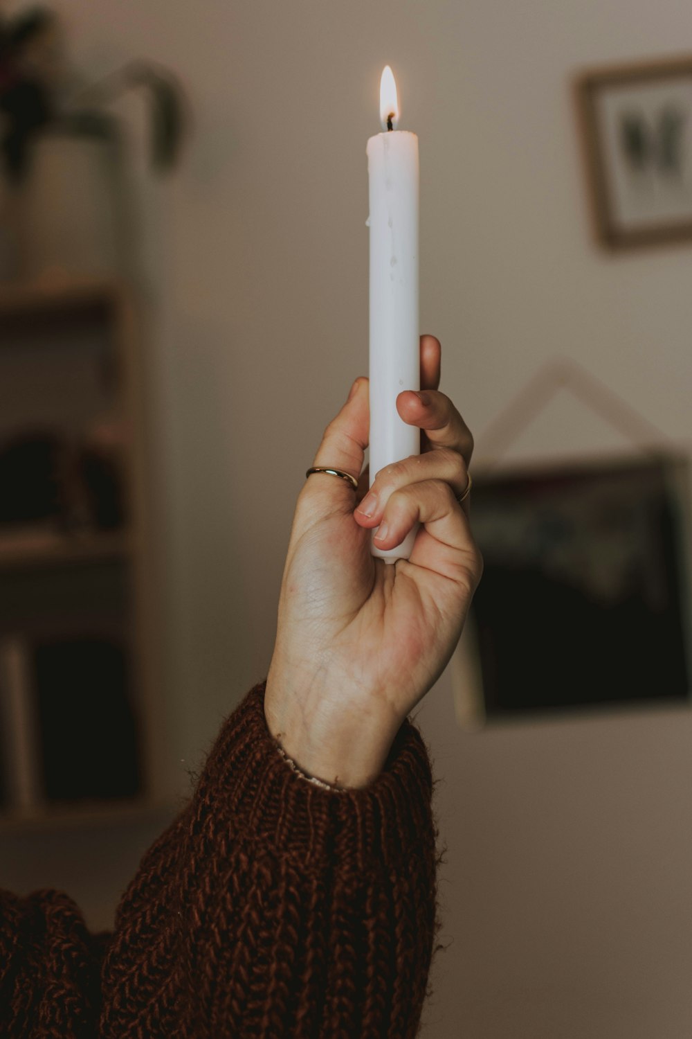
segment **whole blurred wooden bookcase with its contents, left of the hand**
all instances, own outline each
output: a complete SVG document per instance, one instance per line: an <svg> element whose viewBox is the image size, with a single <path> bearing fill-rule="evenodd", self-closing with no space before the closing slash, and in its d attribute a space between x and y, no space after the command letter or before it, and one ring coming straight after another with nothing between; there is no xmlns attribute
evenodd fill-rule
<svg viewBox="0 0 692 1039"><path fill-rule="evenodd" d="M170 807L137 300L0 285L0 832Z"/></svg>

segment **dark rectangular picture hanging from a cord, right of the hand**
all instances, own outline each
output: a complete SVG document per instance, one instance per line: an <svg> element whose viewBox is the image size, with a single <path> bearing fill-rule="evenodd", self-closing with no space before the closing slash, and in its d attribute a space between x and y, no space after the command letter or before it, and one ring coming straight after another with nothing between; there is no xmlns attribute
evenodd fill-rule
<svg viewBox="0 0 692 1039"><path fill-rule="evenodd" d="M474 473L483 716L689 700L684 456Z"/></svg>

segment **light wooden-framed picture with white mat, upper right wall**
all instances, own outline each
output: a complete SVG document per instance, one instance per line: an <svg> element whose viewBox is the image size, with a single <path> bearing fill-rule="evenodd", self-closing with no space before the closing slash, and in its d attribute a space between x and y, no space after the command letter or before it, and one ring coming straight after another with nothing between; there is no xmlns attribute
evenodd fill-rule
<svg viewBox="0 0 692 1039"><path fill-rule="evenodd" d="M599 240L692 240L692 56L585 73L577 101Z"/></svg>

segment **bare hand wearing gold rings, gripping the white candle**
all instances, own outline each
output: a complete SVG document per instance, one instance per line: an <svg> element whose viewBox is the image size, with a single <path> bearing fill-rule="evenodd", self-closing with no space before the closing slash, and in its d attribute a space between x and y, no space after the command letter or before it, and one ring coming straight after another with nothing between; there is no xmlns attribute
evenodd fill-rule
<svg viewBox="0 0 692 1039"><path fill-rule="evenodd" d="M468 521L473 450L469 429L440 384L440 343L420 341L420 387L396 398L402 419L420 427L421 454L387 465L371 487L361 474L369 431L368 379L356 380L327 427L299 495L267 677L270 731L304 771L342 787L364 787L382 770L406 716L446 667L462 633L482 561ZM367 496L367 498L366 498ZM369 515L363 513L363 508ZM420 528L410 559L370 553ZM385 525L387 533L385 535Z"/></svg>

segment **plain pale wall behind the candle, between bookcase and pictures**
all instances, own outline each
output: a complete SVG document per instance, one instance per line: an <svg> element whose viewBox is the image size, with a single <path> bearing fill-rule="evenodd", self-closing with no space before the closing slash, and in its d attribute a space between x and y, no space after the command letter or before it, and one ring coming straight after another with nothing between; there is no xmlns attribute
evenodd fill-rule
<svg viewBox="0 0 692 1039"><path fill-rule="evenodd" d="M194 115L173 181L139 177L184 788L179 760L267 672L295 497L367 372L364 150L383 63L420 137L422 330L480 446L556 354L687 441L692 248L594 249L569 86L583 65L679 53L692 23L677 0L58 6L83 71L154 57ZM118 110L139 139L139 103ZM602 446L587 419L555 419L527 450ZM689 713L469 735L446 674L419 720L442 778L451 941L425 1036L687 1037Z"/></svg>

